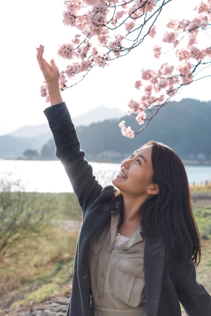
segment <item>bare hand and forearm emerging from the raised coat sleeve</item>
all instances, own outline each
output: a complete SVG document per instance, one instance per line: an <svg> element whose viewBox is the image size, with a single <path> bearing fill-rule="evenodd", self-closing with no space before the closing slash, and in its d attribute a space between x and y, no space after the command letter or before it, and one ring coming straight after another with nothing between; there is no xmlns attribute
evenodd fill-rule
<svg viewBox="0 0 211 316"><path fill-rule="evenodd" d="M44 46L39 45L37 48L37 61L39 68L44 75L49 91L51 106L62 102L62 96L59 89L59 69L52 59L50 64L43 58Z"/></svg>

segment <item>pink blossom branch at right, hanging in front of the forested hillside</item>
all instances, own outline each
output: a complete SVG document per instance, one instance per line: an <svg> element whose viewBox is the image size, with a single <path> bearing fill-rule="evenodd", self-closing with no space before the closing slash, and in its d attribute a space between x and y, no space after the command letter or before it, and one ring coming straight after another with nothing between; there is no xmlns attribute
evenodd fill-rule
<svg viewBox="0 0 211 316"><path fill-rule="evenodd" d="M211 23L211 0L204 0L195 8L196 17L189 20L170 20L163 35L161 45L154 46L154 57L159 59L165 43L172 45L175 52L174 65L163 63L159 69L142 69L141 79L135 82L135 88L141 92L139 101L132 99L129 103L129 114L136 114L140 125L146 123L146 112L150 110L151 117L146 125L158 112L161 106L171 100L178 91L194 80L198 80L199 73L210 66L211 45L204 41L204 46L198 44L198 38L203 30L207 30ZM151 37L156 37L156 26L151 28ZM209 74L211 75L211 74ZM139 129L143 130L146 125ZM124 136L132 137L135 133L127 129L125 122L120 128ZM136 132L136 133L138 133Z"/></svg>

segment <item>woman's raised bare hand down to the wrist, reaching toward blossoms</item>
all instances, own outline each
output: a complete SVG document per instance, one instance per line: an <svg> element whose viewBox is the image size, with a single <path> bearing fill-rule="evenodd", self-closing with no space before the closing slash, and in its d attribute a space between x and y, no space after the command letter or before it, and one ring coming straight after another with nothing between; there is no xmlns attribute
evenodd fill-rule
<svg viewBox="0 0 211 316"><path fill-rule="evenodd" d="M59 81L59 69L56 66L54 60L52 59L50 61L50 64L47 63L47 61L43 58L44 53L44 46L39 45L39 48L36 48L37 50L37 61L39 63L39 68L41 72L44 75L44 78L48 84L55 83Z"/></svg>

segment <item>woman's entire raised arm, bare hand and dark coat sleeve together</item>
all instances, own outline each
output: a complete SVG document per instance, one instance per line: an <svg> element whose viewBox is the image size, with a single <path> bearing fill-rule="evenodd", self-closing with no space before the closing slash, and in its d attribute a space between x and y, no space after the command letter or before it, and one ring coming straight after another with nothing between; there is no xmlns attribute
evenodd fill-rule
<svg viewBox="0 0 211 316"><path fill-rule="evenodd" d="M44 113L49 121L54 141L56 155L65 167L72 183L73 190L83 210L97 199L102 192L102 186L93 176L92 167L85 160L85 152L80 149L74 125L69 111L62 101L59 89L59 70L54 60L50 64L43 58L44 46L37 48L37 61L47 82L51 105Z"/></svg>

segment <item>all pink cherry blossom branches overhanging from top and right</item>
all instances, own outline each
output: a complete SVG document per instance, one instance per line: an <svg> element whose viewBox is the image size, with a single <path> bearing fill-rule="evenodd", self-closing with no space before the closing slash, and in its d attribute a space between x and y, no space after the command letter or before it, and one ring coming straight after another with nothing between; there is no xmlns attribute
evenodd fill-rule
<svg viewBox="0 0 211 316"><path fill-rule="evenodd" d="M174 55L174 64L158 63L158 69L140 70L135 88L140 99L129 102L129 114L136 117L141 128L134 132L119 124L124 136L133 138L142 131L159 109L185 85L210 76L211 45L209 27L211 0L202 0L193 8L192 20L170 19L160 37L159 19L162 10L172 0L73 0L64 2L63 23L72 27L69 43L59 46L58 55L68 60L60 73L60 89L80 82L95 67L105 67L110 61L129 54L151 37L154 58L165 61ZM176 0L175 0L176 1ZM201 38L205 40L201 41ZM48 100L47 86L41 95Z"/></svg>

